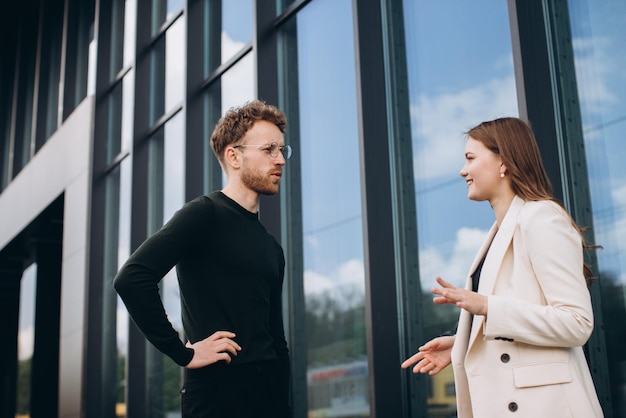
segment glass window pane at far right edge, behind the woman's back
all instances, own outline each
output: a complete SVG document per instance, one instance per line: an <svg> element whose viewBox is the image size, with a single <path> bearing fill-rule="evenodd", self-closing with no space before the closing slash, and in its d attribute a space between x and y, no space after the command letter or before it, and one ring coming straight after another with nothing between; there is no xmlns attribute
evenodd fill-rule
<svg viewBox="0 0 626 418"><path fill-rule="evenodd" d="M626 416L626 3L570 0L612 411Z"/></svg>

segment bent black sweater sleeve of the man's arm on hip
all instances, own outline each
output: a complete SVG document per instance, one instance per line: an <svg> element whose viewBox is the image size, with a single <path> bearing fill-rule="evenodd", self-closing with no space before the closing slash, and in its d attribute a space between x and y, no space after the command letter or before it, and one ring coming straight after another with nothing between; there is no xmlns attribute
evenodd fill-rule
<svg viewBox="0 0 626 418"><path fill-rule="evenodd" d="M193 350L185 347L167 318L159 282L205 233L206 200L189 202L161 230L152 235L128 258L113 280L115 290L130 317L158 350L185 366Z"/></svg>

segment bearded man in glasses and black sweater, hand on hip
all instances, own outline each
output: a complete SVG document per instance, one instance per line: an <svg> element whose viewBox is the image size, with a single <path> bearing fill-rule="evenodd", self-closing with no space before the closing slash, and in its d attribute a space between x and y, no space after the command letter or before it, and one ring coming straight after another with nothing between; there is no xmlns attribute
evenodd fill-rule
<svg viewBox="0 0 626 418"><path fill-rule="evenodd" d="M231 108L211 135L226 173L221 191L185 204L114 279L131 318L185 367L183 417L289 417L283 250L259 221L285 160L283 112L255 100ZM186 337L168 321L159 281L176 266Z"/></svg>

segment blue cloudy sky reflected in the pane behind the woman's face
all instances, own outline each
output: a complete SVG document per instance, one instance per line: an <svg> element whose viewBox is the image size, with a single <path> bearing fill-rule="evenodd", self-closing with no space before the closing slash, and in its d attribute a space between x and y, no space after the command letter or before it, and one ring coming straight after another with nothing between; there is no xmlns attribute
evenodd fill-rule
<svg viewBox="0 0 626 418"><path fill-rule="evenodd" d="M493 223L487 203L470 202L459 177L463 132L517 116L506 2L405 1L420 274L464 283Z"/></svg>

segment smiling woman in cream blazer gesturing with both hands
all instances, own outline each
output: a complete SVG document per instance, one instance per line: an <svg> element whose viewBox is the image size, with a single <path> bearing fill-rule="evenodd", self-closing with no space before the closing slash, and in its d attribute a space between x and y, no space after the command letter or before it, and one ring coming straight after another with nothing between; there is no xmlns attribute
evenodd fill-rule
<svg viewBox="0 0 626 418"><path fill-rule="evenodd" d="M455 336L402 363L452 363L459 418L602 417L582 346L593 330L580 229L552 197L530 127L517 118L467 132L468 197L495 214L465 289L437 277L436 304L461 308Z"/></svg>

